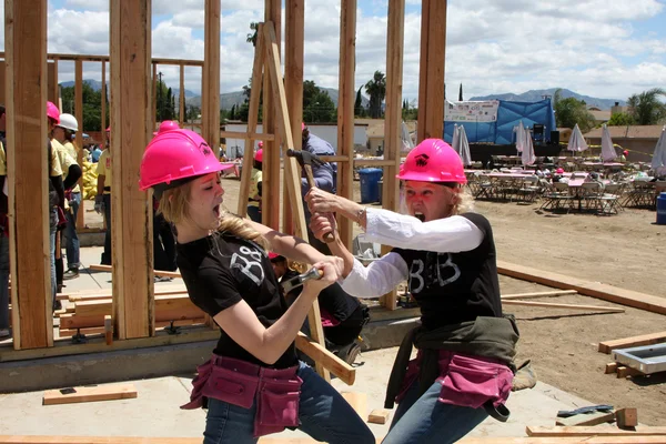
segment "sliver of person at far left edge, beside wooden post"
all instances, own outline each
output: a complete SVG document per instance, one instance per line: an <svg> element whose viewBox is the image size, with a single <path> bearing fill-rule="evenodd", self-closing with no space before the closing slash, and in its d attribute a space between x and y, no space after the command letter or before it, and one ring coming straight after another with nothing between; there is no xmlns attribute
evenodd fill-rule
<svg viewBox="0 0 666 444"><path fill-rule="evenodd" d="M7 181L6 141L7 114L4 105L0 105L0 190L4 190ZM9 337L9 211L8 196L0 191L0 340Z"/></svg>

